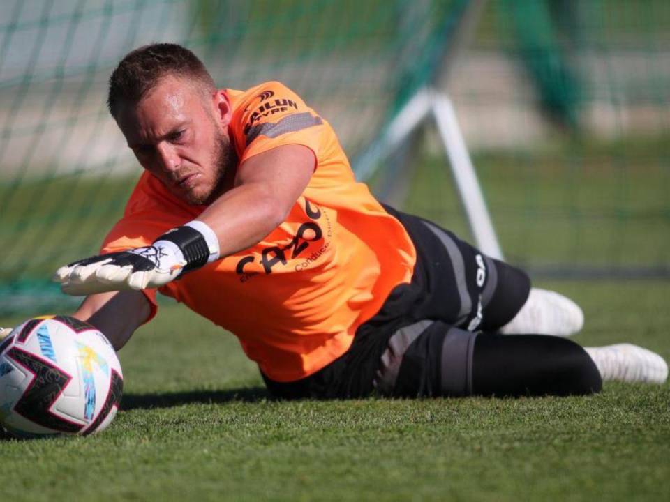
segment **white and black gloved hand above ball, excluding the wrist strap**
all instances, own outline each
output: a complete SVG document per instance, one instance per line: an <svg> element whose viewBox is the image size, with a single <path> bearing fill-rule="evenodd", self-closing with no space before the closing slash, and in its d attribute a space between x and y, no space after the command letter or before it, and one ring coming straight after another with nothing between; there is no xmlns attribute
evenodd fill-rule
<svg viewBox="0 0 670 502"><path fill-rule="evenodd" d="M176 248L176 252L175 252ZM105 291L161 287L186 266L177 246L150 245L75 261L56 271L64 293L89 295Z"/></svg>

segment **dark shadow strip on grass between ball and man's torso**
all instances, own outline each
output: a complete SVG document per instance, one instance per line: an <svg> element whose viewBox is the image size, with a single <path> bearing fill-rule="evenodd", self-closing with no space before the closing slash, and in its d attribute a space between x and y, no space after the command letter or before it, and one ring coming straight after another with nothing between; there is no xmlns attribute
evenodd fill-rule
<svg viewBox="0 0 670 502"><path fill-rule="evenodd" d="M193 403L260 402L273 399L263 387L230 390L194 390L180 393L124 394L121 410L171 408Z"/></svg>

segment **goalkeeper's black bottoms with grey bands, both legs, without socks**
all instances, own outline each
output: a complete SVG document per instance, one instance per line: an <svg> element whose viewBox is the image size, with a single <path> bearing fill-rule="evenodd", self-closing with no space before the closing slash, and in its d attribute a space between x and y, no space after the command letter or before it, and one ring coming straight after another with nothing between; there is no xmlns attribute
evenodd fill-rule
<svg viewBox="0 0 670 502"><path fill-rule="evenodd" d="M265 375L283 398L569 395L597 392L600 374L579 345L498 335L528 298L526 273L487 257L432 222L386 206L417 249L410 284L396 287L350 349L295 382Z"/></svg>

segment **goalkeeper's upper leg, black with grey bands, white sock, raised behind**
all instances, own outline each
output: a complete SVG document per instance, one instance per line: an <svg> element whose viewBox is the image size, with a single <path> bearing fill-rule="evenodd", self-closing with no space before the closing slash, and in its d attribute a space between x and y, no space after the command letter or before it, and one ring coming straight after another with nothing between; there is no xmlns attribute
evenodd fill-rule
<svg viewBox="0 0 670 502"><path fill-rule="evenodd" d="M417 248L415 274L424 276L418 282L425 296L418 319L505 334L568 336L581 330L583 313L569 298L531 288L521 269L487 257L429 220L385 207Z"/></svg>

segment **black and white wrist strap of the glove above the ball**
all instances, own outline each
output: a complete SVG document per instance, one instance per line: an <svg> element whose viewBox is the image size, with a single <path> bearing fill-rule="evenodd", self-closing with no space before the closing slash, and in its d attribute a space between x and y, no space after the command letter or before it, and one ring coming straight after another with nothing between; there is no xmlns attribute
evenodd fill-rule
<svg viewBox="0 0 670 502"><path fill-rule="evenodd" d="M159 245L161 241L174 243L181 250L186 260L182 274L218 259L218 238L214 230L198 220L165 232L154 241L154 245Z"/></svg>

